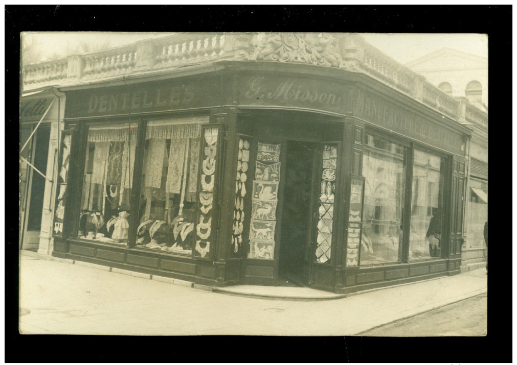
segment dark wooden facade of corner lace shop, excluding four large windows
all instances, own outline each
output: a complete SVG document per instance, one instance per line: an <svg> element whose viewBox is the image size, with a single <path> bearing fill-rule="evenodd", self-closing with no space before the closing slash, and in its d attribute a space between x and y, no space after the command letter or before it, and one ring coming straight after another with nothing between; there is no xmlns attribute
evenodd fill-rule
<svg viewBox="0 0 517 365"><path fill-rule="evenodd" d="M63 90L75 163L54 256L212 286L290 281L341 293L459 273L467 133L462 126L363 74L275 62L215 65L217 74L200 68L188 76L171 74L169 80ZM109 128L131 120L138 127L131 195L132 206L138 207L146 123L185 117L204 117L203 129L219 131L207 255L135 247L134 214L127 246L79 240L77 192L88 124ZM443 225L440 257L408 260L409 231L404 230L399 262L361 265L360 243L350 233L360 239L363 229L361 166L364 140L372 133L402 141L409 161L415 149L444 161L442 220L451 225ZM409 227L411 189L403 194L404 225Z"/></svg>

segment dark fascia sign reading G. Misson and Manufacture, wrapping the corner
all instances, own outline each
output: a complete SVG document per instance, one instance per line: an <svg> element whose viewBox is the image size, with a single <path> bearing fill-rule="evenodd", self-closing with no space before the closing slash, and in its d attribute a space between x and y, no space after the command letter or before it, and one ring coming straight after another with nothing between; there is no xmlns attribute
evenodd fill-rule
<svg viewBox="0 0 517 365"><path fill-rule="evenodd" d="M241 83L239 103L312 108L342 115L350 111L354 116L425 144L464 153L461 134L343 83L254 75Z"/></svg>

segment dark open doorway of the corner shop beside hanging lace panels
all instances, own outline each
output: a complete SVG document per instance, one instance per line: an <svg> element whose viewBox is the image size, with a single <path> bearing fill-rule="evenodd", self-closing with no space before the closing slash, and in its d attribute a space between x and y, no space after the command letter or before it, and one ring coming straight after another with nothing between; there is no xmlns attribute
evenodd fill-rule
<svg viewBox="0 0 517 365"><path fill-rule="evenodd" d="M314 155L318 144L287 141L283 189L279 277L309 284Z"/></svg>

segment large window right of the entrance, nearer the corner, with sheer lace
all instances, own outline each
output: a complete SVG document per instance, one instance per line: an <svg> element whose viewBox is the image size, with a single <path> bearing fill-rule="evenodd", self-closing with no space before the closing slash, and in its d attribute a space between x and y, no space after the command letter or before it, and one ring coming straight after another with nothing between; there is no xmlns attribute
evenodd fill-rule
<svg viewBox="0 0 517 365"><path fill-rule="evenodd" d="M402 261L402 218L407 149L366 135L360 265Z"/></svg>

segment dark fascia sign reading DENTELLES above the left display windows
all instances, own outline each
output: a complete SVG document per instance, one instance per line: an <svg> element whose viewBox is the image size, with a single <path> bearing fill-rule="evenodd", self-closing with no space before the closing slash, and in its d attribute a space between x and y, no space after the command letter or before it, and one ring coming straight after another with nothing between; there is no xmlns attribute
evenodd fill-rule
<svg viewBox="0 0 517 365"><path fill-rule="evenodd" d="M124 115L217 105L216 83L143 83L69 92L66 118Z"/></svg>

